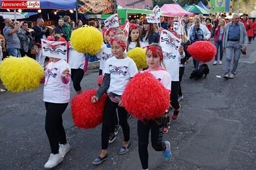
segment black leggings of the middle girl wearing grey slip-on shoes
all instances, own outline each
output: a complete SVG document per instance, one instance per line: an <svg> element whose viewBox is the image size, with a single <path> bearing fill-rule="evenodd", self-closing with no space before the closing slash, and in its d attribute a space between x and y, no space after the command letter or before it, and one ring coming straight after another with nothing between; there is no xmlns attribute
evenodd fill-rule
<svg viewBox="0 0 256 170"><path fill-rule="evenodd" d="M118 108L119 125L123 129L124 141L128 142L130 140L130 127L127 122L127 111L125 108L119 107L118 103L114 103L107 96L101 130L102 149L107 149L109 145L109 134L111 126L113 126L114 116L116 115L116 108Z"/></svg>

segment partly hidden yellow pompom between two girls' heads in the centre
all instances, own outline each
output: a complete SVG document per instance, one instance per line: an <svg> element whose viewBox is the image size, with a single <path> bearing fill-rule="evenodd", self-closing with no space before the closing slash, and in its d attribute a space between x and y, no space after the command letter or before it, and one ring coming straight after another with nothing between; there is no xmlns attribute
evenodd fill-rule
<svg viewBox="0 0 256 170"><path fill-rule="evenodd" d="M146 50L136 47L127 52L128 57L134 60L138 70L147 67Z"/></svg>

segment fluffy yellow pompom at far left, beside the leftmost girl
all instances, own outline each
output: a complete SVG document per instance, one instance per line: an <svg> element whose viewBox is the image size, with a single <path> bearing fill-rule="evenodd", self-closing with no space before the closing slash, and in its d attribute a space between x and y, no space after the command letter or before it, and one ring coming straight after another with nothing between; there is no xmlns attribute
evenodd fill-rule
<svg viewBox="0 0 256 170"><path fill-rule="evenodd" d="M9 57L0 64L0 79L8 91L32 91L40 86L44 69L29 57Z"/></svg>

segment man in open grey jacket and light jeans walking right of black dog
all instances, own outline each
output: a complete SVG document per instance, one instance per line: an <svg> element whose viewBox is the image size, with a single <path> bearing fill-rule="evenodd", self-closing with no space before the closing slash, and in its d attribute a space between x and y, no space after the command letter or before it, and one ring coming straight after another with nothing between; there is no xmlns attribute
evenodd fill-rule
<svg viewBox="0 0 256 170"><path fill-rule="evenodd" d="M233 14L233 19L226 25L223 37L223 51L226 50L226 64L224 78L233 79L241 55L241 48L247 50L247 31L243 23L239 21L240 16ZM231 59L234 59L233 69L230 71Z"/></svg>

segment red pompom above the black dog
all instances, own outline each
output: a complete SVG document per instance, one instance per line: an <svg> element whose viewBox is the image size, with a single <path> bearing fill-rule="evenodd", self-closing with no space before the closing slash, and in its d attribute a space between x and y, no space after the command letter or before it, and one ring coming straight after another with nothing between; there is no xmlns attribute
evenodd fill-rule
<svg viewBox="0 0 256 170"><path fill-rule="evenodd" d="M216 55L216 47L208 41L198 41L189 45L188 53L192 55L195 60L200 62L209 62Z"/></svg>

